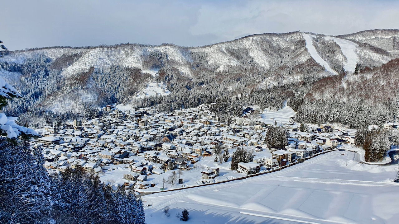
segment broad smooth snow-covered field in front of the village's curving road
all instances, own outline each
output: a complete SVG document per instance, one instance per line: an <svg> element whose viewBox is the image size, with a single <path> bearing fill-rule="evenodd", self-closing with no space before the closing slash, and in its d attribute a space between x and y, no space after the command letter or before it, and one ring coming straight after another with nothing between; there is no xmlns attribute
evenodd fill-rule
<svg viewBox="0 0 399 224"><path fill-rule="evenodd" d="M353 152L334 151L282 171L142 200L148 224L179 223L174 214L185 208L192 223L396 224L396 167L361 164ZM170 218L162 213L166 205Z"/></svg>

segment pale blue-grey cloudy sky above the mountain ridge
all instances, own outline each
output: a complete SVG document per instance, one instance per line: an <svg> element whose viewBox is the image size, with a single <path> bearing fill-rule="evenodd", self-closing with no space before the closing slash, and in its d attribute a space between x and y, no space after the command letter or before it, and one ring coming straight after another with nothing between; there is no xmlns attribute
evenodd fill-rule
<svg viewBox="0 0 399 224"><path fill-rule="evenodd" d="M255 33L399 29L399 1L389 0L8 0L0 6L0 39L10 50L127 42L199 46Z"/></svg>

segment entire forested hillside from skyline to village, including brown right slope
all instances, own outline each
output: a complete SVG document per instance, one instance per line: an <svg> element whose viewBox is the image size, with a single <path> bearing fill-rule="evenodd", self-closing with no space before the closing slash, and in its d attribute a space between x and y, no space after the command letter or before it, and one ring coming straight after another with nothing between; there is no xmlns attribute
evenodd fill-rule
<svg viewBox="0 0 399 224"><path fill-rule="evenodd" d="M381 124L397 118L398 35L266 33L203 47L127 43L10 51L0 61L0 77L24 98L3 111L39 125L32 118L62 122L83 108L98 114L107 103L162 111L228 103L234 106L219 114L233 115L253 104L278 109L289 99L300 122ZM136 96L156 83L171 94Z"/></svg>

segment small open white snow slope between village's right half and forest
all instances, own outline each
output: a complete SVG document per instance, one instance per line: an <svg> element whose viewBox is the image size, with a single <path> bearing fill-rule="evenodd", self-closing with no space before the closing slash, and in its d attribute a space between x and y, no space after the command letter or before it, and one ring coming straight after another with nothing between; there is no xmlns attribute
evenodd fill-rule
<svg viewBox="0 0 399 224"><path fill-rule="evenodd" d="M295 116L296 112L292 110L289 106L284 103L284 106L280 110L263 110L259 116L258 120L264 122L265 124L275 125L275 121L278 126L284 125L286 123L290 123L290 117Z"/></svg>

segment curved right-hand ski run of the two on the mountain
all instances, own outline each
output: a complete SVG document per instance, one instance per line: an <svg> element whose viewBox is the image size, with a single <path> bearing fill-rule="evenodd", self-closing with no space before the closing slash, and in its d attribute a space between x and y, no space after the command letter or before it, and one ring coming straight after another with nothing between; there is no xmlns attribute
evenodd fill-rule
<svg viewBox="0 0 399 224"><path fill-rule="evenodd" d="M345 71L354 72L356 64L358 63L358 55L356 55L356 47L358 45L352 41L340 39L336 37L324 37L326 40L333 40L335 43L340 45L342 53L346 57L346 62L344 62Z"/></svg>

